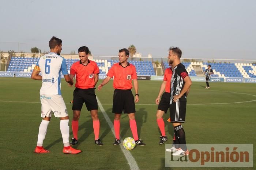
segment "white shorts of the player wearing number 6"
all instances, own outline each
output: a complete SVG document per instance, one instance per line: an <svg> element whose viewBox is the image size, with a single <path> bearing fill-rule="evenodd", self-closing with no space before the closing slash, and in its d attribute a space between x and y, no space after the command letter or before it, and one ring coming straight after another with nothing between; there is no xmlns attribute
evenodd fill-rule
<svg viewBox="0 0 256 170"><path fill-rule="evenodd" d="M68 110L61 95L40 94L42 104L41 117L51 117L52 112L57 118L68 116Z"/></svg>

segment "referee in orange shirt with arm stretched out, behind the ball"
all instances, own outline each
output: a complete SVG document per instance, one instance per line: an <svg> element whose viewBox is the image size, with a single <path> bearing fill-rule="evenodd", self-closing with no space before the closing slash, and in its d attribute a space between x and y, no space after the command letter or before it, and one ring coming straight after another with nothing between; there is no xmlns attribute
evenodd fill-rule
<svg viewBox="0 0 256 170"><path fill-rule="evenodd" d="M128 63L129 51L126 48L119 50L119 63L114 64L108 71L107 77L98 86L98 90L109 82L109 80L114 76L113 87L113 108L112 112L114 115L114 130L115 130L115 140L113 145L119 145L120 143L120 116L121 113L128 114L130 128L132 131L133 139L136 145L144 146L141 139L138 137L137 125L135 120L135 103L139 102L138 94L138 80L136 68L132 64ZM135 90L135 100L132 94L132 80Z"/></svg>

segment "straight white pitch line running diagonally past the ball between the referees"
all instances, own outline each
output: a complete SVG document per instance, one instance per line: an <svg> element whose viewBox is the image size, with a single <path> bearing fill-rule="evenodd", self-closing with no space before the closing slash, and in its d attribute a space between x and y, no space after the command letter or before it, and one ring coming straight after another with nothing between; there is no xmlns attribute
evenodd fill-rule
<svg viewBox="0 0 256 170"><path fill-rule="evenodd" d="M111 131L113 133L113 135L115 136L115 132L114 132L114 127L113 127L113 123L111 122L111 120L109 119L109 116L106 114L106 111L104 110L101 102L99 101L98 97L96 96L96 99L98 101L98 105L99 105L99 109L101 110L103 116L105 117L106 121L108 122L108 125L109 127L111 128ZM120 141L122 144L123 143L123 139L120 138ZM124 147L122 145L119 145L121 150L123 151L124 153L124 156L125 158L127 159L127 162L130 166L130 169L131 170L139 170L139 167L138 167L138 164L137 162L135 161L135 159L133 158L132 154L130 153L130 151L128 150L125 150Z"/></svg>

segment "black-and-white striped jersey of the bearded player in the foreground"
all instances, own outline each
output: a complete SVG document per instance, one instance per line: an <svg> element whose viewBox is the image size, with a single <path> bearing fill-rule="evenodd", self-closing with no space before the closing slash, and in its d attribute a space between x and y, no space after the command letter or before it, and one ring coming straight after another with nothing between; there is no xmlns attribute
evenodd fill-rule
<svg viewBox="0 0 256 170"><path fill-rule="evenodd" d="M178 64L173 68L173 74L171 79L171 90L170 90L170 104L172 104L173 96L179 95L182 88L184 87L184 78L188 76L188 72L183 64ZM178 99L179 101L187 101L186 93Z"/></svg>

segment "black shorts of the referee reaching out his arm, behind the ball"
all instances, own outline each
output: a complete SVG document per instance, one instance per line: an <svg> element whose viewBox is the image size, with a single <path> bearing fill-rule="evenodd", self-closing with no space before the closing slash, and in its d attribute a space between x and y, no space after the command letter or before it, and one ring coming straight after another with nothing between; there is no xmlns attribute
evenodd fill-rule
<svg viewBox="0 0 256 170"><path fill-rule="evenodd" d="M113 107L112 112L121 114L124 110L124 113L135 113L135 103L134 97L131 89L129 90L114 90L113 96Z"/></svg>

